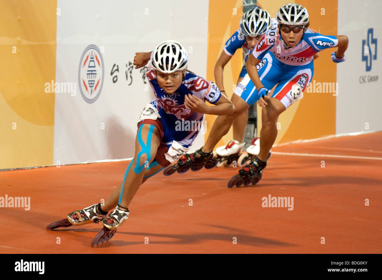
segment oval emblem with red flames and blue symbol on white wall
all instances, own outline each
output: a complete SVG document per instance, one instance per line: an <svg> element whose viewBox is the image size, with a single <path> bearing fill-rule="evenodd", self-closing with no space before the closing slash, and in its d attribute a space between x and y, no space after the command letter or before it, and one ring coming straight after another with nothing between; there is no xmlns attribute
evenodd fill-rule
<svg viewBox="0 0 382 280"><path fill-rule="evenodd" d="M81 95L87 103L97 100L104 85L104 59L96 45L87 46L81 56L78 84Z"/></svg>

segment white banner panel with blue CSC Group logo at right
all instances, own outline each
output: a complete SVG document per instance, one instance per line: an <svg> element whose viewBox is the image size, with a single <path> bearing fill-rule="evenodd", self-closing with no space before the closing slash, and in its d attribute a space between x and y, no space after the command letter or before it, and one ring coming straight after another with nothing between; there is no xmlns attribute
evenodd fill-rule
<svg viewBox="0 0 382 280"><path fill-rule="evenodd" d="M347 35L337 66L336 133L382 130L382 27L378 0L338 1L338 35Z"/></svg>

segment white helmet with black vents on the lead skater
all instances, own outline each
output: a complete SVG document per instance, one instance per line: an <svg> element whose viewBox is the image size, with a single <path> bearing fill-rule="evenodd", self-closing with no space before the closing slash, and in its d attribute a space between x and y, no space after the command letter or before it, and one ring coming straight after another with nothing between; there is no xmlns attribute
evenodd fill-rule
<svg viewBox="0 0 382 280"><path fill-rule="evenodd" d="M168 40L155 47L151 54L151 66L163 73L172 73L186 69L188 53L174 40Z"/></svg>

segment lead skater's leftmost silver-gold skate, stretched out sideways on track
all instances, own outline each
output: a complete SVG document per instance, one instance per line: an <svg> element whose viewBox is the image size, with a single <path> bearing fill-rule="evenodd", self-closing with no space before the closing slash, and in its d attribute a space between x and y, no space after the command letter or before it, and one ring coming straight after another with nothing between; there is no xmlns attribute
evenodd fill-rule
<svg viewBox="0 0 382 280"><path fill-rule="evenodd" d="M66 216L66 219L47 225L47 230L57 229L59 227L70 227L71 225L99 223L107 214L101 211L100 203L93 204L82 210L73 211Z"/></svg>

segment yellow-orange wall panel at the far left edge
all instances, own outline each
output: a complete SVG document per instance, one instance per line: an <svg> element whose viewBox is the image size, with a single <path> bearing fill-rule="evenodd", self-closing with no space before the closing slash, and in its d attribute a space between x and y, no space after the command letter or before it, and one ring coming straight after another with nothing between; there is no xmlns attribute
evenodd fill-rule
<svg viewBox="0 0 382 280"><path fill-rule="evenodd" d="M57 1L0 1L0 169L53 164Z"/></svg>

